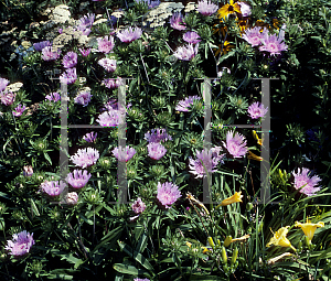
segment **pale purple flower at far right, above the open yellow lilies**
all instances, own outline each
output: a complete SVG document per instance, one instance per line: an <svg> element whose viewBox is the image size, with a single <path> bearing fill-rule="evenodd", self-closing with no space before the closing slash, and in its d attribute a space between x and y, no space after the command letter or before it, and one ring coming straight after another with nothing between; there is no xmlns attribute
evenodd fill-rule
<svg viewBox="0 0 331 281"><path fill-rule="evenodd" d="M300 172L299 167L298 173L292 171L292 175L295 176L295 188L300 190L300 193L303 193L307 196L311 196L321 190L320 187L316 187L321 179L317 175L310 177L309 174L310 170L307 167L303 167L302 172Z"/></svg>

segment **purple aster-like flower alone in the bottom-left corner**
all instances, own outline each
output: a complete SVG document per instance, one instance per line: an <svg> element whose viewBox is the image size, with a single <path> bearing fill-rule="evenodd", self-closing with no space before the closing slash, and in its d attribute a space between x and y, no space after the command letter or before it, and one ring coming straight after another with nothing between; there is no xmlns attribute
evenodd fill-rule
<svg viewBox="0 0 331 281"><path fill-rule="evenodd" d="M26 230L12 236L12 240L7 240L6 250L9 255L21 257L30 252L31 247L34 245L33 234L30 235Z"/></svg>

